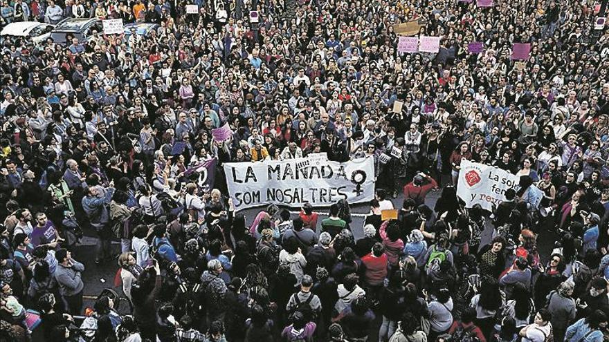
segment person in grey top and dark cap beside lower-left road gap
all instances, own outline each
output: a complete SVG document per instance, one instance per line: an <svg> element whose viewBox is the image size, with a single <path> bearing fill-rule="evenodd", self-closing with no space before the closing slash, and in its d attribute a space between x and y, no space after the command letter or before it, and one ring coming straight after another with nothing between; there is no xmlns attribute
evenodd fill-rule
<svg viewBox="0 0 609 342"><path fill-rule="evenodd" d="M55 258L59 262L55 270L55 280L60 285L60 294L66 304L67 312L73 315L80 314L84 289L82 283L84 265L74 260L67 249L55 252Z"/></svg>

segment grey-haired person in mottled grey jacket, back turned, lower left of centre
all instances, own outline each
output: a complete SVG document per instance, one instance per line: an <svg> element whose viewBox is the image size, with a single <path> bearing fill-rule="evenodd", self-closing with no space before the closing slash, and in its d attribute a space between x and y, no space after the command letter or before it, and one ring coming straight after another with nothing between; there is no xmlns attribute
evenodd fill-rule
<svg viewBox="0 0 609 342"><path fill-rule="evenodd" d="M212 259L207 263L207 271L201 276L201 289L205 294L207 322L224 320L226 314L226 283L219 277L222 273L222 263Z"/></svg>

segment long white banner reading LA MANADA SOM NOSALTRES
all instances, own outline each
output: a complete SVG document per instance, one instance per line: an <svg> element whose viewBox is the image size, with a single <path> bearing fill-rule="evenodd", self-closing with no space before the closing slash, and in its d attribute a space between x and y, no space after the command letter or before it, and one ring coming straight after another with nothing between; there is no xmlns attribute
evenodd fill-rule
<svg viewBox="0 0 609 342"><path fill-rule="evenodd" d="M300 208L305 202L327 207L340 199L349 203L374 198L374 159L345 163L306 158L224 164L228 193L235 210L275 203Z"/></svg>

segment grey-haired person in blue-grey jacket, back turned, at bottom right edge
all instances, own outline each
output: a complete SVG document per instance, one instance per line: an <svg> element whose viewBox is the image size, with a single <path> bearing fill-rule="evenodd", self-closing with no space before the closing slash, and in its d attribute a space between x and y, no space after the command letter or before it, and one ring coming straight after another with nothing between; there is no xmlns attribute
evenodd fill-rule
<svg viewBox="0 0 609 342"><path fill-rule="evenodd" d="M572 298L574 285L565 281L556 290L547 295L547 310L552 312L552 327L554 341L563 341L565 331L570 322L575 319L576 307Z"/></svg>

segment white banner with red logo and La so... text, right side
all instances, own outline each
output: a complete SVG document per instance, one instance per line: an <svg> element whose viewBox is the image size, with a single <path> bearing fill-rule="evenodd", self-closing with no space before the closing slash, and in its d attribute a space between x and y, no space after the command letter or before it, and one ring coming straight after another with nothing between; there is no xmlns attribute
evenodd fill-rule
<svg viewBox="0 0 609 342"><path fill-rule="evenodd" d="M457 183L457 196L465 201L465 207L471 208L480 205L491 210L493 203L505 201L505 191L518 189L520 177L498 167L469 160L461 160L459 182Z"/></svg>

